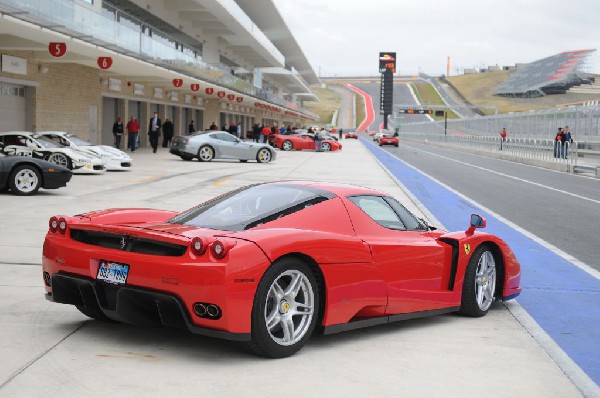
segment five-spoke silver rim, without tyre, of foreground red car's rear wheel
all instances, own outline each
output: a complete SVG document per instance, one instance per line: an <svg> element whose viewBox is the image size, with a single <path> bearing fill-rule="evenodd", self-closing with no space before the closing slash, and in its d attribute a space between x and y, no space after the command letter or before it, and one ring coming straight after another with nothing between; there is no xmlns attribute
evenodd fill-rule
<svg viewBox="0 0 600 398"><path fill-rule="evenodd" d="M310 328L315 294L310 280L298 270L281 273L267 294L264 320L273 341L291 346Z"/></svg>

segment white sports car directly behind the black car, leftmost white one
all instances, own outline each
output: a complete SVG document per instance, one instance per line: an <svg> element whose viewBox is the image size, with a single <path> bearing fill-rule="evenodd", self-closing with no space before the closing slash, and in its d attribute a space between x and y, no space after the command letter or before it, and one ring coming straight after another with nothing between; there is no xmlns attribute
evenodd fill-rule
<svg viewBox="0 0 600 398"><path fill-rule="evenodd" d="M9 156L45 159L73 171L74 174L102 174L104 161L76 148L63 148L51 140L35 137L28 131L0 133L0 151Z"/></svg>

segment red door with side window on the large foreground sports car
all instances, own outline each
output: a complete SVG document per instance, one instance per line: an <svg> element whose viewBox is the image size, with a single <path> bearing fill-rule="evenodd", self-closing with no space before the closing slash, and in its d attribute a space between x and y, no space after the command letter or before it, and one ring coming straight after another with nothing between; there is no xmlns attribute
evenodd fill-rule
<svg viewBox="0 0 600 398"><path fill-rule="evenodd" d="M388 288L386 313L401 314L449 307L452 250L391 197L348 198L355 231L371 248Z"/></svg>

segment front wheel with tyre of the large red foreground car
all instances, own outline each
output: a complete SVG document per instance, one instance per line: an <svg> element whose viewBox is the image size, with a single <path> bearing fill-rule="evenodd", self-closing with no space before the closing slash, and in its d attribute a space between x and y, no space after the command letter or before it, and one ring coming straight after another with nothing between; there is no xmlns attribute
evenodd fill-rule
<svg viewBox="0 0 600 398"><path fill-rule="evenodd" d="M471 317L487 314L496 293L496 260L488 245L479 246L465 271L460 313Z"/></svg>

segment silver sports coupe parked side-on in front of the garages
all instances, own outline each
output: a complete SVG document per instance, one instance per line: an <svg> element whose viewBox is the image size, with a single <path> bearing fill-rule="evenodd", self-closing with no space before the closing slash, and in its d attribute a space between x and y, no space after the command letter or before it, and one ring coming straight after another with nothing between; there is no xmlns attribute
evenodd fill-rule
<svg viewBox="0 0 600 398"><path fill-rule="evenodd" d="M242 141L226 131L201 131L173 138L170 152L183 160L198 158L201 162L213 159L256 160L268 163L275 160L275 151L267 144Z"/></svg>

